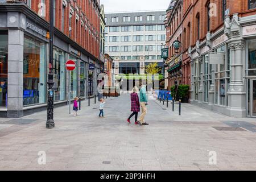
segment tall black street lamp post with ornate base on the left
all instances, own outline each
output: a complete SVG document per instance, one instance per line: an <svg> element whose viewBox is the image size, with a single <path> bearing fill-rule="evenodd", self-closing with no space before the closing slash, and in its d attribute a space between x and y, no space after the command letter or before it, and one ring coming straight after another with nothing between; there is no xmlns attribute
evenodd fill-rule
<svg viewBox="0 0 256 182"><path fill-rule="evenodd" d="M47 105L47 121L46 128L52 129L55 127L55 123L53 120L53 86L54 86L54 78L52 72L52 63L53 63L53 0L49 1L50 6L50 24L49 24L49 73L48 73L48 105Z"/></svg>

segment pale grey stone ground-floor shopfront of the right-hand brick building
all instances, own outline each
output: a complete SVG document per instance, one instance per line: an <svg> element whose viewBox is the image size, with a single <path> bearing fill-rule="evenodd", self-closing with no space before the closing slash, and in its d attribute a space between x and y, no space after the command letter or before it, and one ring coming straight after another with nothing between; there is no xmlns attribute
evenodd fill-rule
<svg viewBox="0 0 256 182"><path fill-rule="evenodd" d="M191 103L230 117L256 117L256 15L227 16L224 27L189 49Z"/></svg>

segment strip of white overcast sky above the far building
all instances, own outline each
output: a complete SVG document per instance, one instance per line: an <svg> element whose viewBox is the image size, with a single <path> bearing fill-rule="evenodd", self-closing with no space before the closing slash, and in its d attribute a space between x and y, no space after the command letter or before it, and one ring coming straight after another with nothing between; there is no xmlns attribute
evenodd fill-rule
<svg viewBox="0 0 256 182"><path fill-rule="evenodd" d="M100 0L105 13L122 11L167 10L171 0Z"/></svg>

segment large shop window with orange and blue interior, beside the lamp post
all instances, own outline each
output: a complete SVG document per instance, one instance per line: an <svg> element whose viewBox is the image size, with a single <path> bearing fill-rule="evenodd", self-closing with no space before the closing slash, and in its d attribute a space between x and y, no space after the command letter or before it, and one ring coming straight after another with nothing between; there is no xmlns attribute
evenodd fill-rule
<svg viewBox="0 0 256 182"><path fill-rule="evenodd" d="M46 44L24 35L23 105L46 103Z"/></svg>

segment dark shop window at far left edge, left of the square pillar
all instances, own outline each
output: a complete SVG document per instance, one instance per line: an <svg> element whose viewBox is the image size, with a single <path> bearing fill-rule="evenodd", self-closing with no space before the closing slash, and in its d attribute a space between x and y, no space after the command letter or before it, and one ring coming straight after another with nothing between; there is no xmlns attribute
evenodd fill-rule
<svg viewBox="0 0 256 182"><path fill-rule="evenodd" d="M0 107L7 107L8 32L0 31Z"/></svg>

